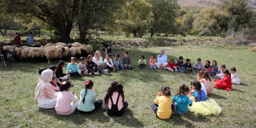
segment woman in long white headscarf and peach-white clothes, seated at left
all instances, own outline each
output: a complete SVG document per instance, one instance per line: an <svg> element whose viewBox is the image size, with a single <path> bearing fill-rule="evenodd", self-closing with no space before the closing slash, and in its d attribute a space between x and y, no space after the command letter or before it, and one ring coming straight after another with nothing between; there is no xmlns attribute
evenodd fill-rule
<svg viewBox="0 0 256 128"><path fill-rule="evenodd" d="M52 78L53 71L50 69L44 70L36 86L35 99L37 99L40 108L54 108L56 105L58 93L54 91L50 84Z"/></svg>

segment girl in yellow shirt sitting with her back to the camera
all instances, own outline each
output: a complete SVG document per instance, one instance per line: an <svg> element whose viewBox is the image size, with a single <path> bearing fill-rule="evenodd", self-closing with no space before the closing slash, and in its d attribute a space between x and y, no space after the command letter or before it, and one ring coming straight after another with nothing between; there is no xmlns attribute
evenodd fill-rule
<svg viewBox="0 0 256 128"><path fill-rule="evenodd" d="M170 87L164 86L159 90L154 103L151 105L156 117L159 117L162 120L166 120L171 117L172 98L170 96Z"/></svg>

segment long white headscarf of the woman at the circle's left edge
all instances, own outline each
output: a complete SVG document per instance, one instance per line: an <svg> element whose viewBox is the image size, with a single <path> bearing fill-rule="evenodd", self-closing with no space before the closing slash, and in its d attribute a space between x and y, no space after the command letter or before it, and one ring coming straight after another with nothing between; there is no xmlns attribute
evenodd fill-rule
<svg viewBox="0 0 256 128"><path fill-rule="evenodd" d="M35 99L37 99L37 97L39 96L40 88L42 87L43 82L49 83L49 82L51 82L51 79L53 79L53 70L51 70L51 69L44 70L41 74L40 81L36 85Z"/></svg>

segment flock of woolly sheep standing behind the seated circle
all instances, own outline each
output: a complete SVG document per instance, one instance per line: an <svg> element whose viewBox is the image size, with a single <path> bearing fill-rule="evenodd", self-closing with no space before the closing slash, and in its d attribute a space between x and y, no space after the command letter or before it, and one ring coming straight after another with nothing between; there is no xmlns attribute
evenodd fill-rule
<svg viewBox="0 0 256 128"><path fill-rule="evenodd" d="M0 54L3 54L5 61L8 62L12 59L24 61L24 59L32 60L46 57L50 64L52 59L57 61L62 58L87 57L89 54L93 54L93 47L90 44L85 45L78 42L69 44L62 42L47 43L45 46L18 44L16 46L0 47Z"/></svg>

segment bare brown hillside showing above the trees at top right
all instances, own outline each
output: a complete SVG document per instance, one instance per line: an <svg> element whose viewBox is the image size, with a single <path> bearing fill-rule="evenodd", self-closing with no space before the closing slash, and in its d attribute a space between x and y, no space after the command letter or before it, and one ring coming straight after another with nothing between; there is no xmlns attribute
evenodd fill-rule
<svg viewBox="0 0 256 128"><path fill-rule="evenodd" d="M198 6L198 7L208 7L210 5L220 4L220 0L178 0L178 3L183 6ZM256 0L252 0L252 7L256 9Z"/></svg>

